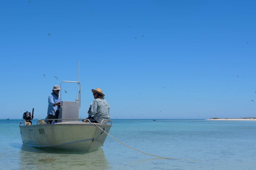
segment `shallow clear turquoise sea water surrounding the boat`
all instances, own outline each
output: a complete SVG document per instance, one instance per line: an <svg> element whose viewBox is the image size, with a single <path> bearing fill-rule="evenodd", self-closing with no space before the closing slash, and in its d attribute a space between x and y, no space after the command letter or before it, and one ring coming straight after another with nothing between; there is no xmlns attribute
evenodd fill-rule
<svg viewBox="0 0 256 170"><path fill-rule="evenodd" d="M0 121L0 169L255 170L256 121L113 120L92 153L46 152L22 145L19 123Z"/></svg>

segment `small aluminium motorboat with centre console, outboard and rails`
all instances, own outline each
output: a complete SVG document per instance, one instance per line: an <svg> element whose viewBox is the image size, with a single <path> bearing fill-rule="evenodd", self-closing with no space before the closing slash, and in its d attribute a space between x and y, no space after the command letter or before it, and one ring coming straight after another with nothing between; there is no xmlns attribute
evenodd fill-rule
<svg viewBox="0 0 256 170"><path fill-rule="evenodd" d="M79 119L81 85L78 81L63 81L61 86L66 82L78 84L76 100L62 101L61 98L58 119L39 119L35 125L32 125L34 108L32 116L30 112L25 112L23 114L24 122L20 123L20 135L24 145L86 152L103 146L107 137L105 132L109 132L112 121L107 120L108 124L104 124L106 119L101 123L91 123L89 119Z"/></svg>

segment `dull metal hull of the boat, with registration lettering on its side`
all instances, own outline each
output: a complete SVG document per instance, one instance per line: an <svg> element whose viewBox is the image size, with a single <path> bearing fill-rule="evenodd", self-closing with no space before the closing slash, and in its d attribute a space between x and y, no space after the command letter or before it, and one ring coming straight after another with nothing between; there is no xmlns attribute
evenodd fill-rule
<svg viewBox="0 0 256 170"><path fill-rule="evenodd" d="M97 125L101 129L105 129L107 133L112 126L110 124ZM20 135L23 144L32 147L90 152L103 146L105 142L107 134L101 129L94 124L85 122L62 122L20 126Z"/></svg>

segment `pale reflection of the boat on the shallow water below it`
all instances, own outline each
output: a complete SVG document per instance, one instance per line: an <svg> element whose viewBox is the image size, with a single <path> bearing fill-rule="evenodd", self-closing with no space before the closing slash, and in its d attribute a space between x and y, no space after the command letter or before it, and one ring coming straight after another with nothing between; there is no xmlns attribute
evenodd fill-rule
<svg viewBox="0 0 256 170"><path fill-rule="evenodd" d="M84 153L64 150L38 150L22 145L20 150L20 169L72 169L72 170L108 170L110 166L105 158L102 148Z"/></svg>

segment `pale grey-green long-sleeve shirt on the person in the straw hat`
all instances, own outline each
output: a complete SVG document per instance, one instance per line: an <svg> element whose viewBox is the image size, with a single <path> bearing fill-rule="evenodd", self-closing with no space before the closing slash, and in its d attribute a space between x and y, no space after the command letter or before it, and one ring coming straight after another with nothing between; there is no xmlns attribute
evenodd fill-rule
<svg viewBox="0 0 256 170"><path fill-rule="evenodd" d="M103 119L110 119L109 109L110 106L105 99L97 98L92 102L89 116L93 116L94 120L101 123ZM102 123L107 124L108 121L103 121Z"/></svg>

